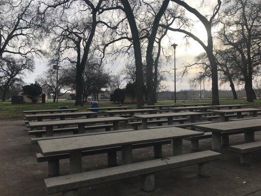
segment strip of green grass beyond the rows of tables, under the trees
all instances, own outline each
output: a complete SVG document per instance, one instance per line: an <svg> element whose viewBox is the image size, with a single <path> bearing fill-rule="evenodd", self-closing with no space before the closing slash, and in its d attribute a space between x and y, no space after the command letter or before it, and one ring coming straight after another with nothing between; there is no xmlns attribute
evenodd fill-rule
<svg viewBox="0 0 261 196"><path fill-rule="evenodd" d="M174 101L159 101L156 104L172 104ZM178 103L211 103L211 99L201 100L179 100ZM255 100L254 103L248 103L245 99L221 99L220 104L250 104L251 107L261 107L261 99ZM100 107L112 107L118 106L113 103L99 103ZM78 108L79 111L86 111L87 107L91 107L90 104L84 106L74 106L73 102L47 102L45 104L11 104L11 102L0 102L0 121L4 120L22 120L24 119L24 110L46 110L46 109L58 109L59 106L68 106L69 108ZM122 106L131 106L136 108L136 104L122 104Z"/></svg>

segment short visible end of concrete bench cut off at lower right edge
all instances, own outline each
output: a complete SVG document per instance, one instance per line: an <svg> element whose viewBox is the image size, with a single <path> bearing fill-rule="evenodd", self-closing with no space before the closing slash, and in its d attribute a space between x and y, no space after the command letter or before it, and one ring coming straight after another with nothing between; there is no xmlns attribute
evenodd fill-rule
<svg viewBox="0 0 261 196"><path fill-rule="evenodd" d="M261 150L261 141L235 145L229 149L240 154L241 166L251 166L251 152Z"/></svg>

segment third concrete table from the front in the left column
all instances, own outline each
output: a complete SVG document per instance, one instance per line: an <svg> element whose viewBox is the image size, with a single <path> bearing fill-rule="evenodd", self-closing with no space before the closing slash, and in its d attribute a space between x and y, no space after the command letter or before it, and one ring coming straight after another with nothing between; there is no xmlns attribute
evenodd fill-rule
<svg viewBox="0 0 261 196"><path fill-rule="evenodd" d="M60 120L65 120L65 117L72 116L86 116L87 119L91 118L92 114L96 114L96 112L70 112L70 113L55 113L55 114L27 114L25 115L26 119L37 119L37 121L43 121L43 118L53 118L60 117Z"/></svg>

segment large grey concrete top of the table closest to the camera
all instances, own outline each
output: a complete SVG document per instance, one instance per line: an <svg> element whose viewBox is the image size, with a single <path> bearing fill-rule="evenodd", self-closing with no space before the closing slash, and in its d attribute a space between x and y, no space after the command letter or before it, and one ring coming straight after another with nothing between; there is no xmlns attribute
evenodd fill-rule
<svg viewBox="0 0 261 196"><path fill-rule="evenodd" d="M43 155L60 154L106 147L118 147L145 142L185 138L202 135L202 132L178 127L135 130L110 134L42 140L38 144Z"/></svg>

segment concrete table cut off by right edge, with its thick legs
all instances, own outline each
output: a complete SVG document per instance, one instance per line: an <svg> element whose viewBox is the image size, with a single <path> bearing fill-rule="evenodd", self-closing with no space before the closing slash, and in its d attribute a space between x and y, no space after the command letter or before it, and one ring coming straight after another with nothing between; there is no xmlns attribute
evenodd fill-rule
<svg viewBox="0 0 261 196"><path fill-rule="evenodd" d="M245 143L254 142L254 129L261 128L261 120L253 119L244 121L198 124L194 125L193 127L199 128L206 132L212 132L212 149L214 151L220 151L221 133L244 130Z"/></svg>

